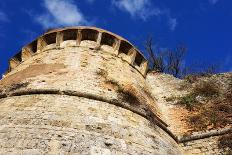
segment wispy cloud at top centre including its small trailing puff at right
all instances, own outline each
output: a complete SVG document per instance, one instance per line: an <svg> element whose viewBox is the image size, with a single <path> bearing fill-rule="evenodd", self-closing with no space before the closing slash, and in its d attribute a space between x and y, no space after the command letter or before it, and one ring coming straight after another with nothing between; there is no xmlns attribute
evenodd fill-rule
<svg viewBox="0 0 232 155"><path fill-rule="evenodd" d="M167 19L171 31L177 26L177 19L170 15L169 9L154 7L151 0L112 0L113 6L130 14L132 18L139 18L146 21L152 16L162 16Z"/></svg>

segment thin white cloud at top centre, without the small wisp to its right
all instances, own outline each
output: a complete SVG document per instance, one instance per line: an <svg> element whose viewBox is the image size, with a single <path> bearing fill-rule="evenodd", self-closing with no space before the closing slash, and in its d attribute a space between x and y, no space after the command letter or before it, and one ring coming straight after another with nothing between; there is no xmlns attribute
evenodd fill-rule
<svg viewBox="0 0 232 155"><path fill-rule="evenodd" d="M112 0L112 4L128 12L133 18L146 20L150 16L162 14L159 8L151 8L150 0Z"/></svg>

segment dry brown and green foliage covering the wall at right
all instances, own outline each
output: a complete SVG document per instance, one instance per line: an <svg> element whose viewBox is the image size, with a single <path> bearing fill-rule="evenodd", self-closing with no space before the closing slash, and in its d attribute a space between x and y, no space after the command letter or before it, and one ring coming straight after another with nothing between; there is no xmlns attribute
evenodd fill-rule
<svg viewBox="0 0 232 155"><path fill-rule="evenodd" d="M191 81L192 82L192 81ZM232 74L198 78L191 91L177 98L190 115L186 121L194 131L225 127L232 123Z"/></svg>

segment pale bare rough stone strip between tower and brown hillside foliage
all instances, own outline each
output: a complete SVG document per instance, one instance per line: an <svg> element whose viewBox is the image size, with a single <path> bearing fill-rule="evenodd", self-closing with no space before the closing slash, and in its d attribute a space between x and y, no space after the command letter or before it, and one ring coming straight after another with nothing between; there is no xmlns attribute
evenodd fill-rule
<svg viewBox="0 0 232 155"><path fill-rule="evenodd" d="M166 99L173 96L182 96L187 92L182 90L183 81L168 74L151 72L146 76L152 95L157 99L157 105L161 109L162 118L169 125L168 128L175 135L183 135L189 131L189 125L185 122L188 110L175 102L167 102Z"/></svg>

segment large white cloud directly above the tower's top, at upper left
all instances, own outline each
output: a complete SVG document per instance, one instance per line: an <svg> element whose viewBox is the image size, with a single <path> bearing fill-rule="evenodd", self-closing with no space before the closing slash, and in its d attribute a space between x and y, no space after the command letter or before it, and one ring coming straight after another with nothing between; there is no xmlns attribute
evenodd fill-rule
<svg viewBox="0 0 232 155"><path fill-rule="evenodd" d="M47 13L36 17L44 28L85 25L87 21L72 0L43 0Z"/></svg>

